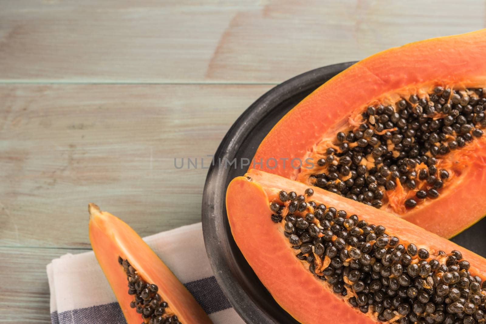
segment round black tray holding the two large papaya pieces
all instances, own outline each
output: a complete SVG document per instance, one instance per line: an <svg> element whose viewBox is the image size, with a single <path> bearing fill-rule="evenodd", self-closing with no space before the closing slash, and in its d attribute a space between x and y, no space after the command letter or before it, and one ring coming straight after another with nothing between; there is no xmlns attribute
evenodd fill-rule
<svg viewBox="0 0 486 324"><path fill-rule="evenodd" d="M261 140L278 120L319 85L355 62L334 64L300 74L269 90L238 118L221 141L214 161L252 159ZM248 265L231 235L226 218L226 188L247 167L220 167L208 170L202 203L202 222L209 262L221 289L246 323L297 323L283 310ZM486 256L486 219L452 239Z"/></svg>

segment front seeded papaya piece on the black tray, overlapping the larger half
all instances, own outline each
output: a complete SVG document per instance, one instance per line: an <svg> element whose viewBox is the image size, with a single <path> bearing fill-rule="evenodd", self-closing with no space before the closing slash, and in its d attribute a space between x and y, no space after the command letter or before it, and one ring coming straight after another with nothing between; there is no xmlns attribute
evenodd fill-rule
<svg viewBox="0 0 486 324"><path fill-rule="evenodd" d="M226 210L300 323L485 323L486 259L384 210L254 169L231 181Z"/></svg>

